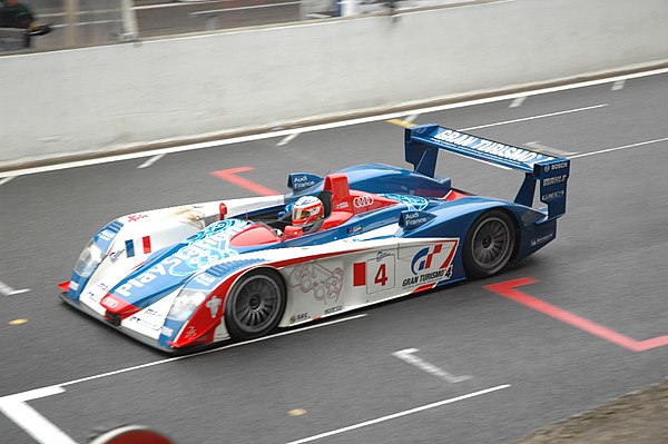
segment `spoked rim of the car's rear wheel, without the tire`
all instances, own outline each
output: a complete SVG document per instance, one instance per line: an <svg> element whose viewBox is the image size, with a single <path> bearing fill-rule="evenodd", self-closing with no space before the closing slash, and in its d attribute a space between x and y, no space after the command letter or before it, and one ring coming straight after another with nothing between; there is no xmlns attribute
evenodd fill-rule
<svg viewBox="0 0 668 444"><path fill-rule="evenodd" d="M508 224L492 217L480 224L473 234L473 260L484 269L503 266L510 251Z"/></svg>

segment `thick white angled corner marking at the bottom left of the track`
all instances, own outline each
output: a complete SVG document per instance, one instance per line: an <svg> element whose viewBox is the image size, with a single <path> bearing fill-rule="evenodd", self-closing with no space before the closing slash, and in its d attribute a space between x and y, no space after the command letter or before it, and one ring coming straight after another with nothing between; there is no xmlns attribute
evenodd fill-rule
<svg viewBox="0 0 668 444"><path fill-rule="evenodd" d="M49 420L43 417L26 402L40 397L57 395L65 392L65 388L53 385L50 387L38 388L17 395L0 397L0 412L13 421L26 433L32 436L41 444L77 444L71 437L56 427Z"/></svg>

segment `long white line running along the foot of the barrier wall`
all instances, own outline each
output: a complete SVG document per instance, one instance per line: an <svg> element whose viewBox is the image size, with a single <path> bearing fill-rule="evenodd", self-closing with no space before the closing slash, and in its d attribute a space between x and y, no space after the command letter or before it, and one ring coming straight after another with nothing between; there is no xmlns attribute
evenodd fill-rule
<svg viewBox="0 0 668 444"><path fill-rule="evenodd" d="M191 37L185 37L184 39L189 39L189 38L191 38ZM65 51L68 51L68 50L65 50ZM522 97L522 96L527 96L527 97L539 96L539 95L544 95L544 93L550 93L550 92L559 92L559 91L566 91L566 90L570 90L570 89L586 88L586 87L591 87L591 86L596 86L596 85L603 85L603 83L609 83L611 81L617 81L617 80L625 80L625 79L628 80L628 79L637 79L637 78L648 77L648 76L658 76L658 75L664 75L667 72L668 72L668 68L654 69L650 71L635 72L635 73L622 75L622 76L613 76L613 77L608 77L608 78L602 78L602 79L582 81L582 82L578 82L578 83L561 85L558 87L550 87L550 88L540 88L540 89L536 89L533 91L513 92L513 93L501 95L501 96L495 96L495 97L487 97L483 99L474 99L474 100L460 101L460 102L455 102L455 103L439 105L439 106L434 106L434 107L418 108L418 109L412 110L412 114L422 115L422 114L428 114L428 112L443 111L446 109L465 108L465 107L471 107L471 106L475 106L475 105L484 105L484 103L492 103L492 102L497 102L497 101L511 100L511 99L515 99L515 98ZM22 168L22 169L16 169L16 170L0 172L0 178L9 177L9 176L33 175L33 174L46 172L46 171L57 171L57 170L61 170L61 169L85 167L85 166L89 166L89 165L108 164L108 162L120 161L120 160L139 159L139 158L144 158L144 157L156 156L159 154L183 152L183 151L189 151L189 150L194 150L194 149L220 147L220 146L225 146L225 145L240 144L240 142L245 142L245 141L262 140L262 139L268 139L268 138L274 138L274 137L283 137L283 136L294 134L294 132L321 131L324 129L341 128L341 127L347 127L347 126L352 126L352 125L361 125L361 124L369 124L369 122L381 121L381 120L397 119L397 118L402 118L405 115L406 115L406 111L389 112L389 114L384 114L384 115L364 117L364 118L358 118L358 119L341 120L341 121L335 121L335 122L331 122L331 124L314 125L311 127L285 129L282 131L263 132L263 134L257 134L257 135L252 135L252 136L242 136L242 137L234 137L234 138L229 138L229 139L213 140L213 141L207 141L207 142L180 145L180 146L169 147L169 148L157 148L157 149L151 149L151 150L147 150L147 151L132 152L132 154L126 154L126 155L111 155L111 156L101 157L98 159L76 160L76 161L49 165L49 166L43 166L43 167ZM503 124L499 124L499 125L503 125ZM473 129L473 128L479 128L479 127L472 127L470 129ZM485 128L485 126L483 126L481 128ZM174 141L174 140L167 139L164 141Z"/></svg>

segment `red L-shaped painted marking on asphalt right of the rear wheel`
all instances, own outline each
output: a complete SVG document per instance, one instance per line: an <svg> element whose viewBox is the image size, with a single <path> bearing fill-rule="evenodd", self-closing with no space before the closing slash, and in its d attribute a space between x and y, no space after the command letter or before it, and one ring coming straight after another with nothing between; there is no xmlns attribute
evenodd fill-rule
<svg viewBox="0 0 668 444"><path fill-rule="evenodd" d="M621 333L617 333L600 324L586 319L581 316L567 312L537 297L514 289L514 287L520 287L522 285L529 285L533 283L536 283L536 279L524 277L520 279L507 280L504 283L485 285L485 288L508 299L514 300L518 304L522 304L529 308L533 308L534 310L540 312L543 315L553 317L554 319L561 320L564 324L572 325L576 328L580 328L581 330L598 336L601 339L606 339L615 345L618 345L631 352L645 352L651 348L668 345L668 336L658 336L646 341L636 341L631 337L622 335Z"/></svg>

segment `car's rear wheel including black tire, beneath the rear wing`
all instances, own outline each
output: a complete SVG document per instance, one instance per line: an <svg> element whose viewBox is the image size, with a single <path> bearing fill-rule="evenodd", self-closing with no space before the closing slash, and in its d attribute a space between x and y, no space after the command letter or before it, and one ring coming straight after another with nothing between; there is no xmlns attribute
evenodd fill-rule
<svg viewBox="0 0 668 444"><path fill-rule="evenodd" d="M471 278L493 276L510 262L515 246L512 218L493 209L481 215L471 226L464 243L464 269Z"/></svg>

